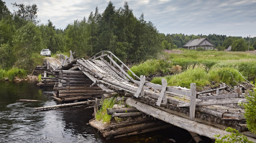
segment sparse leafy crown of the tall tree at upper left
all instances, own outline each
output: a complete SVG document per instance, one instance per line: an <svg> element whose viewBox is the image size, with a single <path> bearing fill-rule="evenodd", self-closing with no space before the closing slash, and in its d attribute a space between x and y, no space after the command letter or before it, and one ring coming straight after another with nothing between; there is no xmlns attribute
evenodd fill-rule
<svg viewBox="0 0 256 143"><path fill-rule="evenodd" d="M14 11L14 16L18 16L20 19L24 19L26 21L32 21L34 24L38 24L40 20L37 20L37 5L32 4L32 6L29 4L25 6L24 4L17 4L12 3L13 7L17 7L18 10Z"/></svg>

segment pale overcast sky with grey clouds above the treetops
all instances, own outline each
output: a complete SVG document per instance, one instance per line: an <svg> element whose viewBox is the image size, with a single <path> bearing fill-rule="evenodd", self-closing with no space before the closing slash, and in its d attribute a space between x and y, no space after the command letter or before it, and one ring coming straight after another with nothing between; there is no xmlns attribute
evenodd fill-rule
<svg viewBox="0 0 256 143"><path fill-rule="evenodd" d="M96 6L106 9L108 0L4 0L10 11L11 2L37 4L38 19L47 24L50 19L56 28L74 20L88 18ZM116 9L124 1L112 1ZM135 16L145 14L160 33L165 34L224 34L227 36L256 36L256 0L129 0Z"/></svg>

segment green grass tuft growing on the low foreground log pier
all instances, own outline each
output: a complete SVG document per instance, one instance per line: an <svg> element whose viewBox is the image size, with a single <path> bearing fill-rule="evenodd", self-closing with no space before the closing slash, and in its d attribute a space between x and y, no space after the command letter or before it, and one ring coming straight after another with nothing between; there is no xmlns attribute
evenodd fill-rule
<svg viewBox="0 0 256 143"><path fill-rule="evenodd" d="M109 123L111 120L111 115L107 114L106 109L112 108L115 104L115 97L111 97L109 99L104 99L102 101L101 109L98 110L96 114L96 120L102 120L102 122Z"/></svg>

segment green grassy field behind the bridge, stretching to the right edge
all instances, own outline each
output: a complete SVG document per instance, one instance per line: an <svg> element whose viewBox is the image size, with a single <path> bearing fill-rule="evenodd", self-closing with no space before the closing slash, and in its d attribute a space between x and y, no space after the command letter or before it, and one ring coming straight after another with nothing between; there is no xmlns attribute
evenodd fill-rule
<svg viewBox="0 0 256 143"><path fill-rule="evenodd" d="M165 78L169 86L189 87L191 82L204 86L211 81L235 85L244 78L255 81L255 63L255 52L172 50L165 52L160 59L147 60L131 69L137 76L164 72L175 74L152 79L156 84L161 84L161 79ZM179 69L182 72L177 74Z"/></svg>

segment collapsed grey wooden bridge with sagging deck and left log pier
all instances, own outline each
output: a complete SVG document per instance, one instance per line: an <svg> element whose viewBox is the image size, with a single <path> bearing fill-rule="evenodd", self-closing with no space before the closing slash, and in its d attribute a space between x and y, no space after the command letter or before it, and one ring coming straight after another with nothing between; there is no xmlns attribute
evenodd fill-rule
<svg viewBox="0 0 256 143"><path fill-rule="evenodd" d="M241 87L232 90L222 84L219 89L196 92L193 83L191 89L168 87L165 79L162 85L153 84L143 75L137 77L111 51L101 51L87 60L73 59L70 51L70 57L60 55L57 61L45 61L48 71L44 74L54 77L42 79L54 83L58 101L96 99L114 92L132 94L126 100L129 106L189 132L214 139L216 134L229 134L224 128L233 127L256 142L247 132L244 109L239 106L246 102Z"/></svg>

